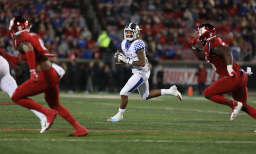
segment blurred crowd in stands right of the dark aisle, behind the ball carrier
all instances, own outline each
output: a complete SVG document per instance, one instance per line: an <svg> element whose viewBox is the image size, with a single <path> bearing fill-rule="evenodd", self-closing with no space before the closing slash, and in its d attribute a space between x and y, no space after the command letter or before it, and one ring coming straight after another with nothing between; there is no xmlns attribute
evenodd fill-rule
<svg viewBox="0 0 256 154"><path fill-rule="evenodd" d="M255 0L98 0L103 22L118 46L123 27L136 22L147 43L147 56L158 59L196 59L188 41L197 27L210 23L227 43L235 60L249 50L255 54Z"/></svg>

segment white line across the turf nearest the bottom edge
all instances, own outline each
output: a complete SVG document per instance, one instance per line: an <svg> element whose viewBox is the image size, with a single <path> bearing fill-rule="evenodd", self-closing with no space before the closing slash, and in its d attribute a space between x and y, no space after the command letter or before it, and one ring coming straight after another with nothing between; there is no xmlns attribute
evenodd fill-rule
<svg viewBox="0 0 256 154"><path fill-rule="evenodd" d="M251 143L256 144L256 141L228 141L228 140L103 140L103 139L15 139L15 138L0 138L0 141L94 141L94 142L180 142L180 143Z"/></svg>

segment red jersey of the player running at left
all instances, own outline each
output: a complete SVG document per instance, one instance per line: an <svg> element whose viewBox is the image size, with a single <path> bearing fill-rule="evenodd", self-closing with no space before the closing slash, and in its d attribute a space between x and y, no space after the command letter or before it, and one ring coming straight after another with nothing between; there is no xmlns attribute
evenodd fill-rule
<svg viewBox="0 0 256 154"><path fill-rule="evenodd" d="M12 38L12 43L14 45L14 47L17 49L17 46L19 43L23 42L23 41L29 41L30 44L33 46L34 49L34 54L35 54L35 68L38 65L38 63L40 62L42 57L54 57L54 54L51 54L47 48L44 46L44 43L41 39L41 37L39 35L37 35L36 33L33 32L23 32L20 33L18 35L15 35ZM26 58L26 54L23 51L18 51L19 52L19 56L25 60L25 62L27 63L27 58Z"/></svg>

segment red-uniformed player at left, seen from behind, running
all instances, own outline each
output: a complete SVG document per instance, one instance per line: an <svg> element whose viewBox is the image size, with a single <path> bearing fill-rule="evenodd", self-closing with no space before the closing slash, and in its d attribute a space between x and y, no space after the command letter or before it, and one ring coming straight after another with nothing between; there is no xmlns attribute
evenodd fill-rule
<svg viewBox="0 0 256 154"><path fill-rule="evenodd" d="M28 21L22 16L15 16L10 20L9 30L12 43L19 51L19 57L0 52L6 60L16 65L27 63L30 70L30 79L19 85L11 99L17 104L42 112L45 118L41 120L44 127L41 133L49 129L57 113L72 124L75 132L70 136L84 136L88 134L85 127L81 126L70 112L59 103L58 82L65 73L64 69L48 60L54 57L45 48L39 35L29 32ZM44 93L44 98L51 109L34 102L28 96Z"/></svg>

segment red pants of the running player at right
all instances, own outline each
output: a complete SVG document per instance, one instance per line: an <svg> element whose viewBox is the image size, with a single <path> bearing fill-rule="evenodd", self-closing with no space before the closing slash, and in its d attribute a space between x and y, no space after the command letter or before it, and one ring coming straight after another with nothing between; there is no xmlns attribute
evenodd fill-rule
<svg viewBox="0 0 256 154"><path fill-rule="evenodd" d="M242 105L245 105L247 104L246 83L247 75L239 71L236 78L225 76L216 80L204 90L203 95L211 96L211 101L224 104L226 97L222 94L231 93L234 100L240 101ZM247 109L242 108L242 110L256 119L256 109L254 107L248 105Z"/></svg>

